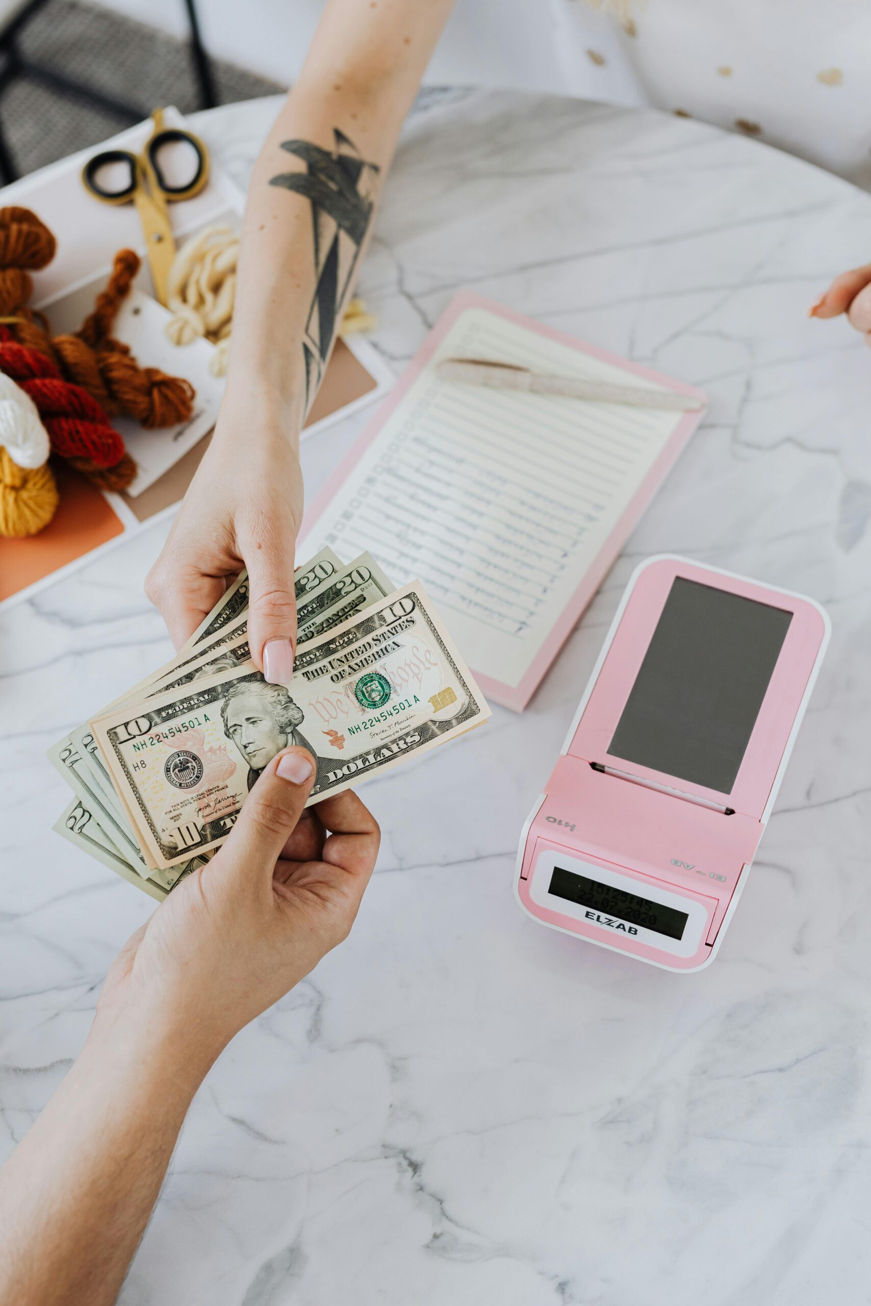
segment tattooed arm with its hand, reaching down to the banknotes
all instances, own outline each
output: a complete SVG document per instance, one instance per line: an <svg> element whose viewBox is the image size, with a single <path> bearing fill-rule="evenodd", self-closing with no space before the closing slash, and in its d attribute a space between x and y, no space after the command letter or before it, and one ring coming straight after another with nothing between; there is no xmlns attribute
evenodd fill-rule
<svg viewBox="0 0 871 1306"><path fill-rule="evenodd" d="M218 424L146 588L180 645L247 567L251 652L269 680L290 679L296 640L299 432L452 5L328 0L251 180Z"/></svg>

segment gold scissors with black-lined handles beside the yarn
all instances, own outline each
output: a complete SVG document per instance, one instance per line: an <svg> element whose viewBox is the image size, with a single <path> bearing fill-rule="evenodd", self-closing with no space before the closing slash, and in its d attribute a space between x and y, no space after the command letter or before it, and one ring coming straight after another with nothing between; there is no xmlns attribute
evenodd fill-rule
<svg viewBox="0 0 871 1306"><path fill-rule="evenodd" d="M165 127L163 110L155 108L151 120L154 127L141 154L133 154L132 150L101 150L85 163L82 184L101 204L132 201L136 205L142 223L154 293L166 306L170 268L175 259L175 238L167 205L178 200L189 200L200 193L209 180L209 150L193 132L180 127ZM192 146L196 158L193 176L183 185L171 185L159 163L163 146L175 141L184 141ZM128 180L127 185L110 191L101 183L98 174L102 168L116 163L127 165Z"/></svg>

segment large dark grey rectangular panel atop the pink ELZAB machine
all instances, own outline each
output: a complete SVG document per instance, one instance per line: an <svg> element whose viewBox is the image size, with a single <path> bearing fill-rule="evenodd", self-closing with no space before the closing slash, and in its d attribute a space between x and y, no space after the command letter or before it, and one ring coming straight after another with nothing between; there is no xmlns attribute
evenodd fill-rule
<svg viewBox="0 0 871 1306"><path fill-rule="evenodd" d="M609 752L731 793L791 619L678 577Z"/></svg>

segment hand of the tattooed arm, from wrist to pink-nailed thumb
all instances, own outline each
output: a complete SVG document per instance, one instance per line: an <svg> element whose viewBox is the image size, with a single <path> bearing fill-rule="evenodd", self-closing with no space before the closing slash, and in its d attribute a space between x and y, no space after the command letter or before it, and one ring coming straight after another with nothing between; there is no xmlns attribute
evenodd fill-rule
<svg viewBox="0 0 871 1306"><path fill-rule="evenodd" d="M286 684L296 645L294 545L303 478L294 440L273 418L259 419L248 397L225 396L200 464L145 592L176 648L248 568L248 643L268 680Z"/></svg>

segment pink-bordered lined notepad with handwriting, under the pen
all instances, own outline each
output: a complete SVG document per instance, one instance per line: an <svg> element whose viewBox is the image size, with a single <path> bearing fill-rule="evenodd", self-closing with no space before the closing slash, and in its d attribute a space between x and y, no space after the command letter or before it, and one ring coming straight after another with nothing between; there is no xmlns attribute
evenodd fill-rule
<svg viewBox="0 0 871 1306"><path fill-rule="evenodd" d="M452 300L306 515L299 556L420 579L488 699L522 710L701 413L441 380L441 358L704 396L479 295Z"/></svg>

